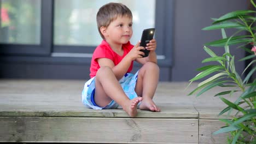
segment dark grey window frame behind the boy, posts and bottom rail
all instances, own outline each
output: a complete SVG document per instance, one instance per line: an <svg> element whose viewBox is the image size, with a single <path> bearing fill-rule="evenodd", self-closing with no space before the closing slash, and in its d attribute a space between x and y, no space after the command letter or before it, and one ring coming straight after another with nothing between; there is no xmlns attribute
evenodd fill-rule
<svg viewBox="0 0 256 144"><path fill-rule="evenodd" d="M40 45L0 44L1 61L32 63L90 64L96 46L53 45L54 0L41 1ZM158 43L158 64L172 65L174 1L156 1L155 38ZM171 10L170 10L171 9ZM61 54L73 55L61 55ZM83 53L85 55L75 55ZM87 55L86 55L87 54Z"/></svg>

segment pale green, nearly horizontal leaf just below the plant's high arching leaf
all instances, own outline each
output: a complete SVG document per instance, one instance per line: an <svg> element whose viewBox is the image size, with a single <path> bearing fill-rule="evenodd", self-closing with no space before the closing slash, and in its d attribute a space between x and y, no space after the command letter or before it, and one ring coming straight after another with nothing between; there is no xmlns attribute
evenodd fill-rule
<svg viewBox="0 0 256 144"><path fill-rule="evenodd" d="M208 31L208 30L213 30L213 29L237 28L237 27L245 27L245 26L241 25L240 23L229 22L229 23L219 23L217 25L208 26L208 27L202 28L202 30Z"/></svg>

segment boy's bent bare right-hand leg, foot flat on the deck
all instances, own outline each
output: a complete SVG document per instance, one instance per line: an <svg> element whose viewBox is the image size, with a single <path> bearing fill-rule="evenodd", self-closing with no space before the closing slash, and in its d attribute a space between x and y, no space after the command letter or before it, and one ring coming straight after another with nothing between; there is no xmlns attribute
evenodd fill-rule
<svg viewBox="0 0 256 144"><path fill-rule="evenodd" d="M159 67L157 64L147 62L139 69L135 92L142 97L142 103L139 105L141 110L160 111L152 100L158 86Z"/></svg>

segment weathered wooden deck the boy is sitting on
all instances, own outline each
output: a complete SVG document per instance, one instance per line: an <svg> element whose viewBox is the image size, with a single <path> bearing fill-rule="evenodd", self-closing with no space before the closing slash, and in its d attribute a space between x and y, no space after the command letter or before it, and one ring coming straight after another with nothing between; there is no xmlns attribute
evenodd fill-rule
<svg viewBox="0 0 256 144"><path fill-rule="evenodd" d="M184 91L187 82L160 82L154 101L161 112L130 118L121 109L87 109L84 82L0 80L0 142L225 143L226 135L212 135L224 126L225 104L213 97L224 88L195 97L187 94L197 83Z"/></svg>

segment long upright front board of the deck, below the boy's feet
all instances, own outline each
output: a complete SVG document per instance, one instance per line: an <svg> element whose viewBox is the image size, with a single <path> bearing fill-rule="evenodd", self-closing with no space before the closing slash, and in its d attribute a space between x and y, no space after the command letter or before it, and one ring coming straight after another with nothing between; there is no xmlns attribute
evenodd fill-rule
<svg viewBox="0 0 256 144"><path fill-rule="evenodd" d="M197 119L0 117L0 142L198 143Z"/></svg>

